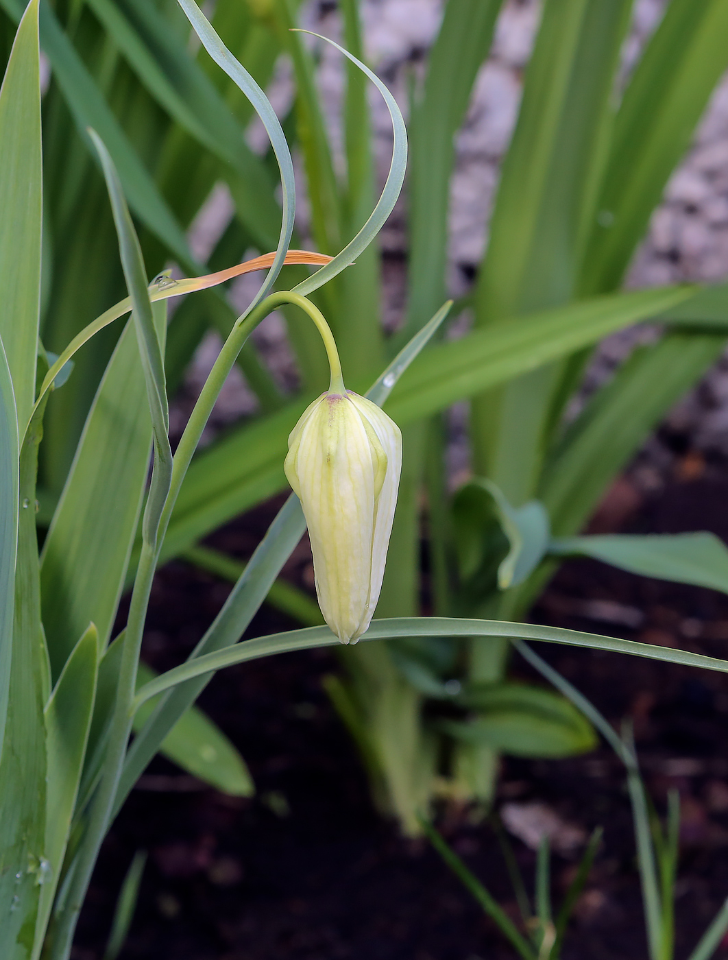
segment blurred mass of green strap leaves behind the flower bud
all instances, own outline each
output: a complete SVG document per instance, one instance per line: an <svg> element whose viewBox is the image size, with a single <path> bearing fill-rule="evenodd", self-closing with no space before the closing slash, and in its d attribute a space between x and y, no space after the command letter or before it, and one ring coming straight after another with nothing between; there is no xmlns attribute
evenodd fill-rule
<svg viewBox="0 0 728 960"><path fill-rule="evenodd" d="M402 323L387 334L381 322L376 245L312 295L354 389L376 377L446 300L454 137L501 7L500 0L444 4L426 68L411 81ZM0 0L3 61L23 8L22 0ZM338 9L343 44L364 58L358 0L341 0ZM208 12L264 88L281 58L291 63L294 103L281 121L308 206L294 247L339 252L376 201L364 75L347 63L335 149L317 90L316 48L290 32L299 20L294 0L216 0ZM471 294L451 314L469 311L473 329L457 343L435 347L429 360L423 356L416 382L414 373L406 375L392 396L390 412L404 427L405 468L379 616L525 616L559 556L597 555L593 543L575 535L649 431L723 348L728 300L722 288L619 290L728 67L728 6L670 0L622 84L631 15L630 0L543 4L487 249ZM173 265L182 275L200 275L273 250L281 208L273 157L248 144L250 104L200 47L174 0L42 0L40 37L47 65L41 338L59 353L126 292L88 126L116 164L149 277ZM201 263L190 227L221 183L234 212ZM280 285L305 276L306 268L287 267ZM237 313L224 288L176 308L165 358L171 396L207 332L224 337ZM594 345L652 318L668 322L663 335L636 350L575 420L567 420ZM164 558L184 554L235 579L239 565L199 541L285 489L286 437L326 381L316 332L292 314L286 319L298 391L284 393L269 358L248 342L239 364L258 412L193 462ZM118 337L113 326L94 337L49 400L38 477L41 524L63 490ZM472 400L474 477L453 493L443 412L462 398ZM621 540L599 556L635 572L692 576L698 583L712 570L711 586L726 588L714 541L680 541L674 549L679 569L667 573L660 566L662 545ZM132 572L133 565L132 559ZM291 585L277 584L270 601L303 623L319 622L309 598ZM499 752L565 756L594 743L590 724L560 695L508 682L507 651L505 639L485 644L478 638L412 638L341 650L341 675L329 678L328 692L363 756L380 808L406 831L419 830L416 811L434 795L488 804ZM180 762L183 754L177 751ZM236 770L248 789L240 764Z"/></svg>

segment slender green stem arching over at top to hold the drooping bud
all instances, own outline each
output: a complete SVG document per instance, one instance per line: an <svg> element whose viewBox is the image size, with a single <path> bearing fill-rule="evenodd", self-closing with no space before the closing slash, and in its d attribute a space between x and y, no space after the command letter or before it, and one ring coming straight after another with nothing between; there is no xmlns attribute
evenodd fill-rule
<svg viewBox="0 0 728 960"><path fill-rule="evenodd" d="M235 325L230 336L223 344L223 349L213 365L200 392L195 408L192 412L182 438L176 449L172 462L171 481L168 470L159 469L158 458L154 458L154 469L149 505L157 502L160 487L166 493L161 511L153 510L156 522L144 524L144 542L137 567L134 587L131 593L129 619L127 622L122 653L119 681L116 688L116 704L109 727L108 748L104 764L104 773L97 793L91 803L88 826L78 852L78 861L74 876L68 891L68 899L58 924L54 930L49 960L67 960L73 940L74 930L81 912L83 898L93 873L101 845L106 836L111 821L114 797L116 796L119 779L121 777L124 758L131 732L131 719L135 712L134 692L136 687L136 670L139 662L144 624L147 617L149 598L152 592L152 583L156 564L159 559L161 544L167 532L170 516L175 506L177 494L181 488L184 475L190 465L193 454L200 442L202 430L212 413L215 401L223 389L228 373L232 370L238 354L243 348L253 329L264 320L272 310L283 303L294 303L300 307L316 324L318 332L324 342L331 365L331 389L343 393L341 378L341 364L334 337L328 324L316 306L300 294L290 291L281 291L271 294L266 300L255 307L250 314ZM160 475L161 474L161 475ZM165 489L166 488L166 489ZM146 517L145 517L146 520Z"/></svg>

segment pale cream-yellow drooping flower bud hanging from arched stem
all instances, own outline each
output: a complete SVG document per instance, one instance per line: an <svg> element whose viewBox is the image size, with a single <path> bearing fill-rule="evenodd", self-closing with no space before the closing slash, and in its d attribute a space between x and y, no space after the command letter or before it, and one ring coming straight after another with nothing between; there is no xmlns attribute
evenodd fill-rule
<svg viewBox="0 0 728 960"><path fill-rule="evenodd" d="M318 606L342 643L371 622L402 468L399 427L351 391L319 396L294 426L284 465L308 524Z"/></svg>

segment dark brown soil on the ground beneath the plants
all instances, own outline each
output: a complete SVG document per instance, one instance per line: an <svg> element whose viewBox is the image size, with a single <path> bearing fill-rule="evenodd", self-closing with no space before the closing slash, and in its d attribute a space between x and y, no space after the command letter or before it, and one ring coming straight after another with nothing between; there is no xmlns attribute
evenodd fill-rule
<svg viewBox="0 0 728 960"><path fill-rule="evenodd" d="M704 474L671 482L642 503L629 491L625 498L625 483L607 499L601 529L613 529L619 517L626 529L712 529L728 540L728 480ZM631 516L625 516L625 502ZM226 528L216 542L249 555L275 506ZM305 550L299 551L294 575L306 562ZM186 564L169 564L155 582L145 658L156 669L183 659L227 590ZM728 642L728 596L589 562L566 564L532 618L718 657ZM249 635L292 626L264 608ZM658 810L670 787L680 791L676 957L682 960L728 896L728 677L546 644L539 652L615 725L631 718ZM321 690L321 677L336 666L325 650L258 660L212 681L200 705L246 757L257 796L225 797L155 759L106 840L75 960L100 960L122 877L140 848L150 858L125 960L514 956L428 844L402 839L373 811L357 756ZM513 666L531 676L523 662ZM630 809L615 756L602 747L569 760L506 759L499 806L530 801L548 804L571 825L604 828L563 956L646 958ZM440 827L515 916L487 823L450 812ZM513 845L530 881L535 854L517 839ZM574 871L574 859L554 854L556 900ZM728 952L719 949L716 956Z"/></svg>

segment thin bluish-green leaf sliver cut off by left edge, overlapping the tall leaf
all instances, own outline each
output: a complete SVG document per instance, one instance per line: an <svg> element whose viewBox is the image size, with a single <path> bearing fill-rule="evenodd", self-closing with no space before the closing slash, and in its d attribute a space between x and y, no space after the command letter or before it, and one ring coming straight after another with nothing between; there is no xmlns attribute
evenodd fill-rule
<svg viewBox="0 0 728 960"><path fill-rule="evenodd" d="M0 339L0 756L8 715L17 553L18 438L11 372Z"/></svg>

